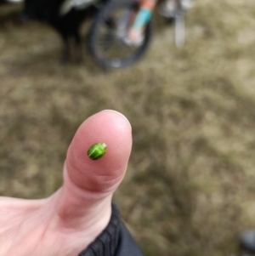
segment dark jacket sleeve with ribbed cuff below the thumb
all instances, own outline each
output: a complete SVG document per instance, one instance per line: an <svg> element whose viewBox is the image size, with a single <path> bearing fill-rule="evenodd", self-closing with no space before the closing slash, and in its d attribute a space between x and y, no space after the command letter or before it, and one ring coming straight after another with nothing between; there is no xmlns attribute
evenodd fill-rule
<svg viewBox="0 0 255 256"><path fill-rule="evenodd" d="M105 230L78 256L143 256L112 204L111 219Z"/></svg>

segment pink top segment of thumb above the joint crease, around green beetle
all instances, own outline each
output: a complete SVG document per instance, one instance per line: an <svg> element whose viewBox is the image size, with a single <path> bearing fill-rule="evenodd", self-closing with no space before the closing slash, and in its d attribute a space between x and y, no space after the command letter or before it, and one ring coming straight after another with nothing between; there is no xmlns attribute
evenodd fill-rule
<svg viewBox="0 0 255 256"><path fill-rule="evenodd" d="M91 145L104 142L105 156L93 161L87 156ZM65 179L88 190L107 192L122 180L132 148L131 127L115 111L101 111L89 117L78 128L66 157Z"/></svg>

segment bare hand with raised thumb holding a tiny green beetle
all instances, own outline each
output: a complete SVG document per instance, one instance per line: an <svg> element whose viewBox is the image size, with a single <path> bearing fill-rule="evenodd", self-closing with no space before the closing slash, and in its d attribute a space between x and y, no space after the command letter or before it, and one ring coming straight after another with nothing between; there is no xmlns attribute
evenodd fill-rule
<svg viewBox="0 0 255 256"><path fill-rule="evenodd" d="M87 151L105 142L105 156ZM64 185L41 200L0 197L0 256L77 256L111 218L111 198L127 169L131 126L116 111L101 111L78 128L64 165Z"/></svg>

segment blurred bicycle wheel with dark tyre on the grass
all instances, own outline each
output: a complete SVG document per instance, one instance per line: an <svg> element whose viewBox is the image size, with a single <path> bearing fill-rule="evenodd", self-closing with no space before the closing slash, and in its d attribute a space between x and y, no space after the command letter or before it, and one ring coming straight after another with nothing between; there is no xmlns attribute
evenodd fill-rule
<svg viewBox="0 0 255 256"><path fill-rule="evenodd" d="M139 60L150 44L151 21L144 27L139 45L128 43L127 31L132 26L139 3L114 0L106 3L96 16L88 37L90 52L106 68L122 68Z"/></svg>

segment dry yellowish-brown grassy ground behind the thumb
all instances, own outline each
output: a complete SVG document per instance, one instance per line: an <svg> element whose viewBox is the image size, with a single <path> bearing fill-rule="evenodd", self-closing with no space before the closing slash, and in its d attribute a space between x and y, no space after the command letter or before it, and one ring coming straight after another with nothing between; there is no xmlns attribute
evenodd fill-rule
<svg viewBox="0 0 255 256"><path fill-rule="evenodd" d="M235 255L255 226L254 1L196 0L184 48L156 20L144 59L111 72L60 66L59 37L19 8L0 6L1 195L57 190L79 124L115 109L133 126L115 201L144 254Z"/></svg>

